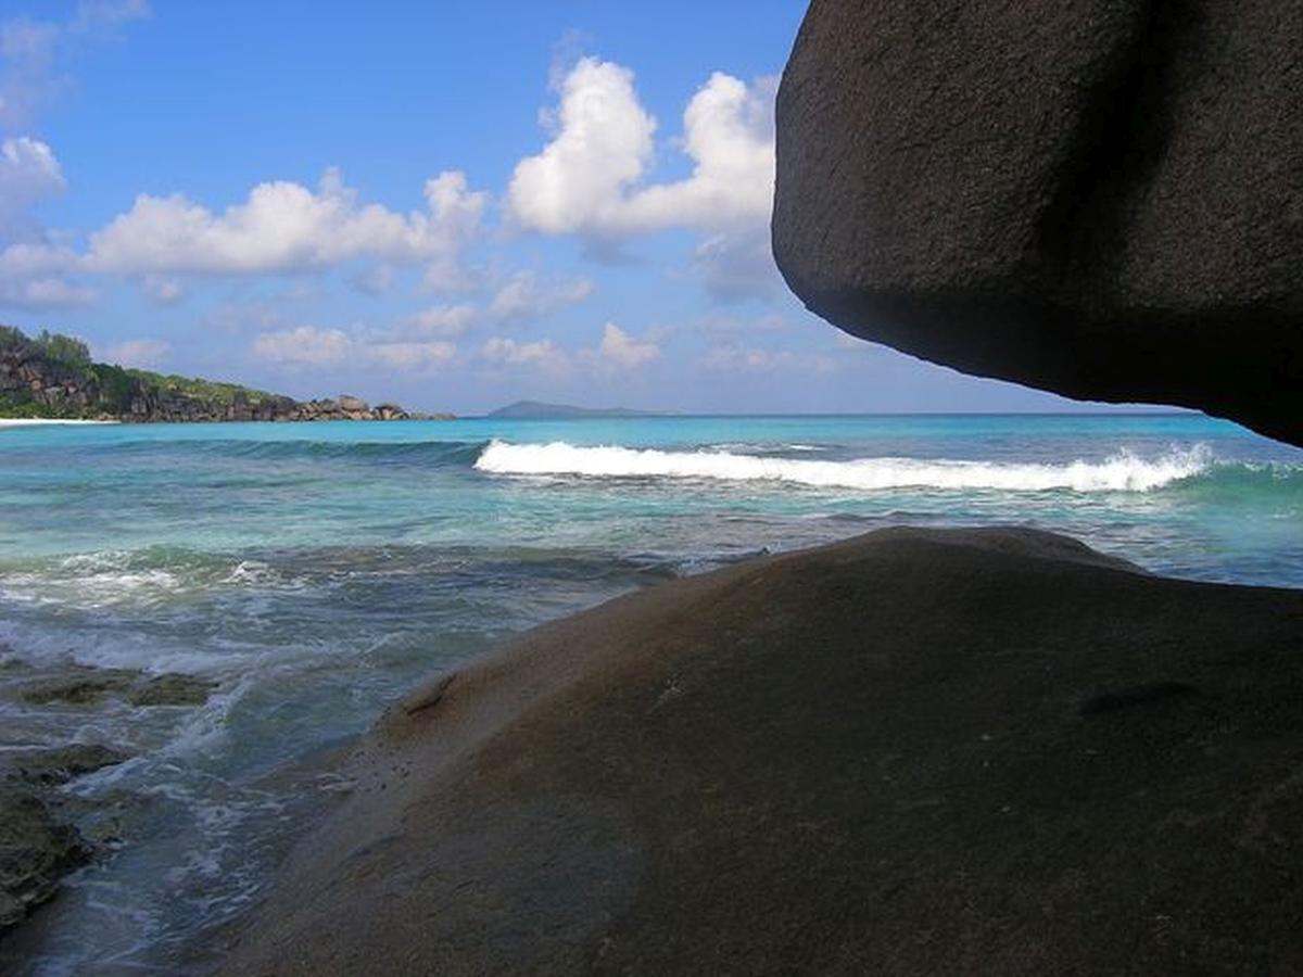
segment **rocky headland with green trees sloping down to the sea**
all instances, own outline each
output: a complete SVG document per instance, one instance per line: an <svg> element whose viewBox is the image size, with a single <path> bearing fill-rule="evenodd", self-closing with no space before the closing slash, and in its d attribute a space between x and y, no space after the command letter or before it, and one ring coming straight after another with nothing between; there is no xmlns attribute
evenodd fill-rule
<svg viewBox="0 0 1303 977"><path fill-rule="evenodd" d="M27 336L0 326L0 418L132 422L185 421L405 421L397 404L349 395L294 400L236 383L171 376L91 360L79 339L42 331Z"/></svg>

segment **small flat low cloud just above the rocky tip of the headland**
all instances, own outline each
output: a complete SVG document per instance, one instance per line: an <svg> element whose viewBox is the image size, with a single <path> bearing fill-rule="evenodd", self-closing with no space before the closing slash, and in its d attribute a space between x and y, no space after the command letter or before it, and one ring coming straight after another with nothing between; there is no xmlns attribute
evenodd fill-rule
<svg viewBox="0 0 1303 977"><path fill-rule="evenodd" d="M416 373L452 362L457 347L447 341L414 343L298 326L257 336L253 354L263 362L288 367L382 367Z"/></svg>

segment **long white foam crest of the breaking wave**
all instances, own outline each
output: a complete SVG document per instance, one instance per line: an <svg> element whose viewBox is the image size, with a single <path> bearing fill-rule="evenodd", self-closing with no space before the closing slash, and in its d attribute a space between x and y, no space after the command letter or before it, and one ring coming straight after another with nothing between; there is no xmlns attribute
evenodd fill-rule
<svg viewBox="0 0 1303 977"><path fill-rule="evenodd" d="M1148 491L1197 475L1213 464L1207 446L1173 449L1148 460L1118 452L1102 461L1066 464L868 457L812 461L735 455L727 451L654 451L618 446L579 447L566 442L509 444L494 440L476 461L481 472L589 478L710 478L730 482L788 482L827 488L942 488L1079 492Z"/></svg>

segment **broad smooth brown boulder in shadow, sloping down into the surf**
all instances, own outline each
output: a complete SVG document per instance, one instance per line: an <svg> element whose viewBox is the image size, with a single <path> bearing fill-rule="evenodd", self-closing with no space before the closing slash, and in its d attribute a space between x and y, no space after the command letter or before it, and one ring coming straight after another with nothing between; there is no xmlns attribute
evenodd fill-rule
<svg viewBox="0 0 1303 977"><path fill-rule="evenodd" d="M1303 593L756 560L410 696L227 972L1299 973L1300 702Z"/></svg>

